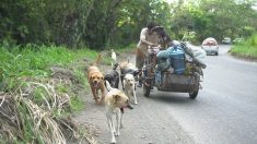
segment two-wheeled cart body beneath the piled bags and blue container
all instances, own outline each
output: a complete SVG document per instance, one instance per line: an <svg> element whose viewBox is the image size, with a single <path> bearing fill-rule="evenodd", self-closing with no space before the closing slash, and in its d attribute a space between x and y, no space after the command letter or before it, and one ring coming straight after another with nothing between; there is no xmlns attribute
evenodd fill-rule
<svg viewBox="0 0 257 144"><path fill-rule="evenodd" d="M195 99L201 87L200 82L203 76L201 67L195 61L186 61L185 63L190 69L183 74L175 74L172 67L165 71L159 71L156 53L159 51L154 48L149 50L143 67L143 95L150 96L151 89L156 87L157 91L163 92L179 92L188 93L191 99Z"/></svg>

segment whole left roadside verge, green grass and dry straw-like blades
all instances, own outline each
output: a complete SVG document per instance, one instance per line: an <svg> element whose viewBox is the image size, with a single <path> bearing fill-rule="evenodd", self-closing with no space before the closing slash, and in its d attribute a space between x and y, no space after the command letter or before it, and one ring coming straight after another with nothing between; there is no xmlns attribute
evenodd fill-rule
<svg viewBox="0 0 257 144"><path fill-rule="evenodd" d="M97 53L86 48L0 46L0 128L10 128L0 132L0 142L62 143L58 123L67 127L61 118L84 109L78 91L89 89L85 69ZM52 76L52 67L68 77ZM7 116L15 116L16 123Z"/></svg>

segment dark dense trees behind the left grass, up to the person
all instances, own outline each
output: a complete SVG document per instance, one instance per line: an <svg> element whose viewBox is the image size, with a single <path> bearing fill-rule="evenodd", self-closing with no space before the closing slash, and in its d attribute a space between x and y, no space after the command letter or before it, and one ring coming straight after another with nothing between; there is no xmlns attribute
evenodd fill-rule
<svg viewBox="0 0 257 144"><path fill-rule="evenodd" d="M168 12L163 0L3 0L0 40L103 49L138 40L148 21L164 24Z"/></svg>

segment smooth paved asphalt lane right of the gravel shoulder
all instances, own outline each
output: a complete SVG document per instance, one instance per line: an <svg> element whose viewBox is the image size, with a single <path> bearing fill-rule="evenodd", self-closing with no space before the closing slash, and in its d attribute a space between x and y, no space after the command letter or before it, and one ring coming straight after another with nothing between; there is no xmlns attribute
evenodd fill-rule
<svg viewBox="0 0 257 144"><path fill-rule="evenodd" d="M220 46L220 56L207 57L203 89L196 100L165 95L170 115L195 143L257 143L257 63L231 57L229 48Z"/></svg>

